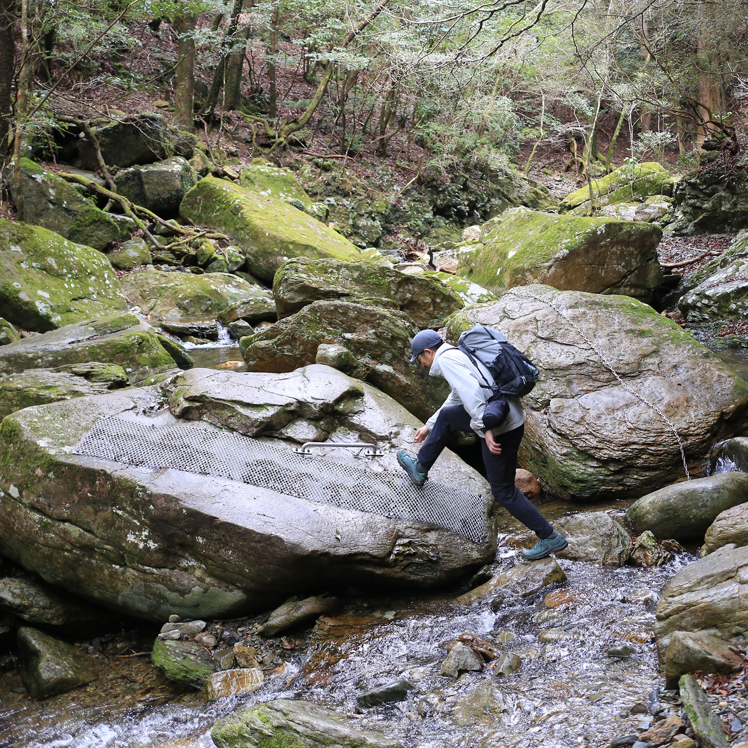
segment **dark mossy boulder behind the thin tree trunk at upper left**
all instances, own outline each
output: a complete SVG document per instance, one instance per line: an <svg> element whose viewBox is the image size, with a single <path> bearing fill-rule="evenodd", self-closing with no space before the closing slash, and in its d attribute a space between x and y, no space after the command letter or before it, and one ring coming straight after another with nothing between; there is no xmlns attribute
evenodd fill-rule
<svg viewBox="0 0 748 748"><path fill-rule="evenodd" d="M24 221L55 231L71 242L104 249L120 238L120 227L70 183L29 159L21 159ZM15 180L9 180L11 191ZM13 195L13 199L16 196Z"/></svg>

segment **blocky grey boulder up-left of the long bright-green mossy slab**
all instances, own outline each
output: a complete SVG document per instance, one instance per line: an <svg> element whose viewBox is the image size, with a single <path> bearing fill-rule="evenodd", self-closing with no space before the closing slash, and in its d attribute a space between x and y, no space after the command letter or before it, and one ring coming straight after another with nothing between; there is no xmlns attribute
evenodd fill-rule
<svg viewBox="0 0 748 748"><path fill-rule="evenodd" d="M194 168L181 156L132 166L114 177L117 192L162 218L178 215L183 197L197 184Z"/></svg>

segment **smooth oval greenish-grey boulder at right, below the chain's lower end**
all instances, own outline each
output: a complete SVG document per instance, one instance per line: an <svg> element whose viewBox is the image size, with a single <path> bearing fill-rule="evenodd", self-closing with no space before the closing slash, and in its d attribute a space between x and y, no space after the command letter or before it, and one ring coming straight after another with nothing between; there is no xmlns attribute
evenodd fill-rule
<svg viewBox="0 0 748 748"><path fill-rule="evenodd" d="M720 512L747 501L748 473L717 473L646 494L631 504L626 518L637 533L700 540Z"/></svg>

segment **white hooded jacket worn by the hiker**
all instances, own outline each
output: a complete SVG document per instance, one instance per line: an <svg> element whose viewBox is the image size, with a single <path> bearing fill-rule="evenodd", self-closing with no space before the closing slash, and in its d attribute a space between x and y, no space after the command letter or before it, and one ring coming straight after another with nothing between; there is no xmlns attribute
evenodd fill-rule
<svg viewBox="0 0 748 748"><path fill-rule="evenodd" d="M444 343L435 351L429 375L443 377L450 383L450 387L452 387L452 392L444 400L441 408L444 408L445 405L462 405L470 415L470 428L480 438L485 439L483 433L483 411L491 392L480 385L485 384L486 381L488 384L493 384L494 380L491 374L488 373L488 370L479 361L476 363L480 374L485 379L481 378L473 362L459 348ZM501 426L491 429L494 436L517 429L524 423L524 408L522 407L521 400L518 397L508 397L506 400L509 402L509 415ZM426 428L429 431L434 428L441 408L426 421Z"/></svg>

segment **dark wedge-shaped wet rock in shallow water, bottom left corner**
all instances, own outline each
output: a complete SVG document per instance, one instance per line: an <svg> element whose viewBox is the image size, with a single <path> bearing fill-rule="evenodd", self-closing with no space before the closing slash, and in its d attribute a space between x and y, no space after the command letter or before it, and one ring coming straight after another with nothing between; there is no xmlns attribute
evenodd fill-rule
<svg viewBox="0 0 748 748"><path fill-rule="evenodd" d="M18 654L21 680L34 699L65 693L99 677L91 657L35 628L19 628Z"/></svg>

